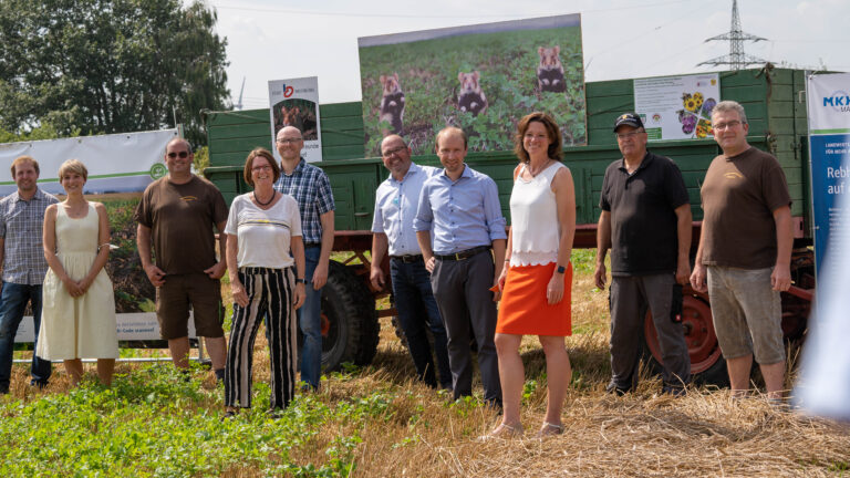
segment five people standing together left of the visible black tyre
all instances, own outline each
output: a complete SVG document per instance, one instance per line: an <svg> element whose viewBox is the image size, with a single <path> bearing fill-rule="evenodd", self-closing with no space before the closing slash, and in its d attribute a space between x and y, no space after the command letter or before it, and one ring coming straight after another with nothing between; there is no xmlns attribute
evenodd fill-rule
<svg viewBox="0 0 850 478"><path fill-rule="evenodd" d="M255 190L228 210L218 188L191 173L188 142L174 138L165 148L168 175L148 185L135 211L136 245L156 287L156 315L172 360L188 372L191 313L225 384L229 416L250 406L251 355L263 320L272 408L286 407L294 395L298 323L304 335L301 381L310 389L320 383L321 290L333 246L333 196L324 173L300 157L297 128L281 129L277 145L280 164L263 148L250 153L245 179ZM108 385L118 347L113 288L104 271L106 209L83 196L87 170L76 159L60 167L62 202L38 187L34 158L17 158L11 170L18 191L0 199L0 393L9 393L14 335L28 303L35 332L31 385L48 384L51 361L64 361L76 384L82 358L97 358L99 377ZM214 228L220 232L220 260ZM219 281L228 269L235 302L229 349Z"/></svg>

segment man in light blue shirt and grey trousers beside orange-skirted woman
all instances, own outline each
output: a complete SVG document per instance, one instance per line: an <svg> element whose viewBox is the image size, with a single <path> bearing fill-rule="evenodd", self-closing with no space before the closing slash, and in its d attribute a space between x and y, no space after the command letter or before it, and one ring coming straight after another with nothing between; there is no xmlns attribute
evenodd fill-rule
<svg viewBox="0 0 850 478"><path fill-rule="evenodd" d="M484 399L501 407L493 342L497 293L489 291L498 283L507 243L498 188L490 177L464 164L467 142L462 129L442 129L436 149L444 169L425 180L413 228L448 333L454 396L473 393L471 329L478 343Z"/></svg>

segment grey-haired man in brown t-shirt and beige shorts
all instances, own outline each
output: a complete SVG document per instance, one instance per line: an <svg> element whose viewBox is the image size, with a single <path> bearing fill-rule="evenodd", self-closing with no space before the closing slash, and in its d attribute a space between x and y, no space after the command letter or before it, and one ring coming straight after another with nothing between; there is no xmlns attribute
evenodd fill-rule
<svg viewBox="0 0 850 478"><path fill-rule="evenodd" d="M779 293L791 285L791 199L776 158L747 144L749 125L736 102L712 112L714 158L701 195L703 227L692 287L708 292L733 396L749 388L753 355L768 398L781 403L785 347Z"/></svg>

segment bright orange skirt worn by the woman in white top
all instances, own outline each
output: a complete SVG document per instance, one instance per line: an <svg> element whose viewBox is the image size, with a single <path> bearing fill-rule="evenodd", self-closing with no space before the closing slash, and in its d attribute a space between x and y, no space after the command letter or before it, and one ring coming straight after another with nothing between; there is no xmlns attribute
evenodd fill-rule
<svg viewBox="0 0 850 478"><path fill-rule="evenodd" d="M572 335L572 262L563 274L563 299L549 305L546 288L554 262L543 266L511 267L499 302L496 333L528 335Z"/></svg>

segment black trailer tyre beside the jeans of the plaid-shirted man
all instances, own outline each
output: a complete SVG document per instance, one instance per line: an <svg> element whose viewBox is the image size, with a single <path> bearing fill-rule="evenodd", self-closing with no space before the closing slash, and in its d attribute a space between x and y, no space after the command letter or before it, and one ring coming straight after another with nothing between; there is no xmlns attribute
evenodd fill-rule
<svg viewBox="0 0 850 478"><path fill-rule="evenodd" d="M322 368L326 372L340 370L345 362L367 365L377 351L375 299L361 277L369 276L330 261L322 290ZM301 342L299 331L299 349Z"/></svg>

